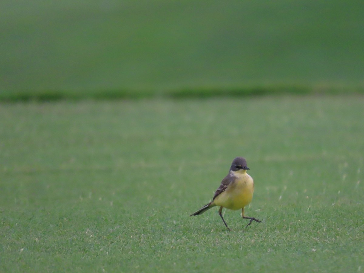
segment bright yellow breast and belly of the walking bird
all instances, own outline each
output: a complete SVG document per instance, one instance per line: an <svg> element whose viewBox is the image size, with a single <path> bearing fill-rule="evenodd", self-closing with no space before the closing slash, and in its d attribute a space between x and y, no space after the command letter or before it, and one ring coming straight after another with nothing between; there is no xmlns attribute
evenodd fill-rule
<svg viewBox="0 0 364 273"><path fill-rule="evenodd" d="M219 194L214 203L226 209L242 209L252 202L254 193L253 179L248 175L242 175L234 183L229 185L225 191Z"/></svg>

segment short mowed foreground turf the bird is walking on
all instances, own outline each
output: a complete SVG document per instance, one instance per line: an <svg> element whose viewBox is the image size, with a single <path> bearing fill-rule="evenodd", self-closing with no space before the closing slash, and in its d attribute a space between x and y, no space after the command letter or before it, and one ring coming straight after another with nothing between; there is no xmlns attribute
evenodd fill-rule
<svg viewBox="0 0 364 273"><path fill-rule="evenodd" d="M360 272L364 97L0 106L1 272ZM209 202L236 156L246 215Z"/></svg>

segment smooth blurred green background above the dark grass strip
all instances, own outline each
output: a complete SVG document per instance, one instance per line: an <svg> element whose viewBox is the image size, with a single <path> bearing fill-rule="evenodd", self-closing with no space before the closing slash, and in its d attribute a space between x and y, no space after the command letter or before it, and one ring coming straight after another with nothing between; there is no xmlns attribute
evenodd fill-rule
<svg viewBox="0 0 364 273"><path fill-rule="evenodd" d="M0 92L364 85L363 1L0 2Z"/></svg>

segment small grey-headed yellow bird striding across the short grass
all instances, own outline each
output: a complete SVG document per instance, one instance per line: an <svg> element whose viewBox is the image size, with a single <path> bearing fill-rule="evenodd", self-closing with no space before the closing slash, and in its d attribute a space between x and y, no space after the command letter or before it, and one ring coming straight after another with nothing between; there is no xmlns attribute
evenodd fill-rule
<svg viewBox="0 0 364 273"><path fill-rule="evenodd" d="M261 223L254 217L246 217L244 215L244 207L252 202L254 193L254 181L253 178L246 173L250 170L246 164L246 160L243 157L237 157L233 160L229 174L222 179L221 185L215 191L212 201L201 209L195 211L190 216L199 215L212 207L219 206L219 215L224 222L227 230L230 230L227 226L224 218L222 217L222 209L238 210L241 209L241 215L243 219L250 219L248 227L253 221Z"/></svg>

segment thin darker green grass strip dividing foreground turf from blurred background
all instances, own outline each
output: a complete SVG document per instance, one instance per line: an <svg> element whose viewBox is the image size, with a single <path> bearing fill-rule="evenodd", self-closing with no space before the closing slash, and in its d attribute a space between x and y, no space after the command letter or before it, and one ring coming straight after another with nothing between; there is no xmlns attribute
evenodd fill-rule
<svg viewBox="0 0 364 273"><path fill-rule="evenodd" d="M214 98L274 95L345 95L364 94L364 87L266 86L236 88L180 88L164 91L99 90L99 91L19 91L0 93L0 102L52 102L58 100L117 100L147 98Z"/></svg>

